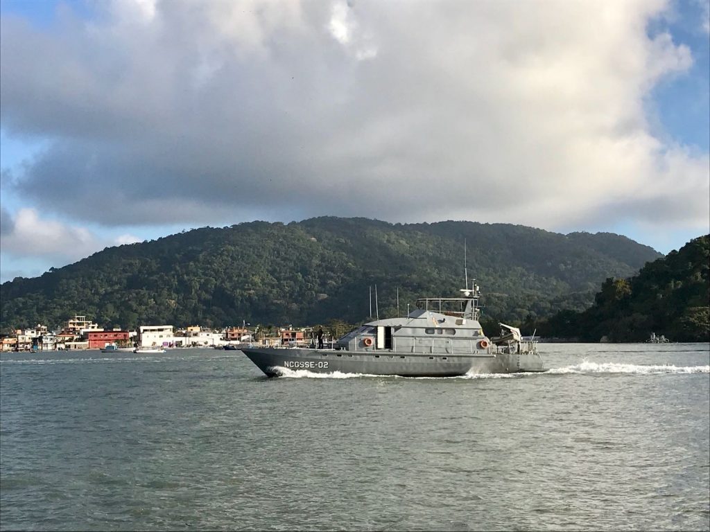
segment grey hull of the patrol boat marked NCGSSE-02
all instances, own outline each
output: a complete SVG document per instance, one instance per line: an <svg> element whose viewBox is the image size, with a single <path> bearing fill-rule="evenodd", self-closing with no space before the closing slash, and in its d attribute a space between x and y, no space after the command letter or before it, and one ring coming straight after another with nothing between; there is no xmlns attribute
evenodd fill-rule
<svg viewBox="0 0 710 532"><path fill-rule="evenodd" d="M314 373L398 375L400 377L457 377L467 373L542 372L540 355L527 353L398 353L390 350L242 348L268 377L284 370Z"/></svg>

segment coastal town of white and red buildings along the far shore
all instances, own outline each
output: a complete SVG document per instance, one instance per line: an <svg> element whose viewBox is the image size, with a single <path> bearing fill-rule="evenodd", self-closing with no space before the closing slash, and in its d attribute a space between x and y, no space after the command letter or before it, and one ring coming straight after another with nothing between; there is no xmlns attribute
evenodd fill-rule
<svg viewBox="0 0 710 532"><path fill-rule="evenodd" d="M2 351L51 351L114 348L232 348L251 344L262 347L305 346L312 343L314 328L242 326L223 329L199 325L176 328L173 325L140 326L136 331L104 329L87 316L76 315L62 328L50 331L39 324L17 329L1 336Z"/></svg>

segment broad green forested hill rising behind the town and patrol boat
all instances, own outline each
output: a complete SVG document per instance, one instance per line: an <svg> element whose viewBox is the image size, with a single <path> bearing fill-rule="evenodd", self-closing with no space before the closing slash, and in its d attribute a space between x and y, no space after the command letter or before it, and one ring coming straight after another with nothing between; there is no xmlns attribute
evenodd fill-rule
<svg viewBox="0 0 710 532"><path fill-rule="evenodd" d="M358 323L369 314L368 287L377 286L381 317L396 314L397 290L400 314L417 297L458 294L464 240L484 314L513 323L583 310L603 279L630 277L662 256L611 233L507 224L251 222L107 248L41 277L16 278L0 287L1 322L53 327L82 314L124 328Z"/></svg>

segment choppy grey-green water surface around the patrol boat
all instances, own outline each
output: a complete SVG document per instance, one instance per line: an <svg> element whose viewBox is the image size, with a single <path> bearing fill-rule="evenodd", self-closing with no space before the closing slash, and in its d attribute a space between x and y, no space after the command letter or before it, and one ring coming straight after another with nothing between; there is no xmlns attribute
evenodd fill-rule
<svg viewBox="0 0 710 532"><path fill-rule="evenodd" d="M544 374L451 379L5 353L0 525L707 530L709 345L540 350Z"/></svg>

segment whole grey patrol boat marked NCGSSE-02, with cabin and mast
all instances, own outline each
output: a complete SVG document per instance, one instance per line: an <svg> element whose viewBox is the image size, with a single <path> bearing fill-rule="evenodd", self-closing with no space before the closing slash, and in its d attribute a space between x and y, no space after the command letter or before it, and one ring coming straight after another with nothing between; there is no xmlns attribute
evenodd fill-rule
<svg viewBox="0 0 710 532"><path fill-rule="evenodd" d="M500 323L500 336L484 334L480 296L474 282L461 297L418 299L408 316L365 323L332 349L241 350L268 377L285 370L402 377L545 371L537 341L523 339L518 328Z"/></svg>

